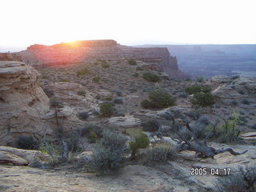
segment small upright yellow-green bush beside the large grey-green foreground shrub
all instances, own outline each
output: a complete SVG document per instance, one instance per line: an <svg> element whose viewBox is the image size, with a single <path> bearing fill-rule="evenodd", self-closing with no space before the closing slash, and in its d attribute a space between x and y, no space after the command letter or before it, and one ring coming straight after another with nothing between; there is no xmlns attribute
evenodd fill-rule
<svg viewBox="0 0 256 192"><path fill-rule="evenodd" d="M139 149L145 149L150 144L149 137L142 132L142 130L131 130L130 136L132 140L130 141L131 158L135 158Z"/></svg>

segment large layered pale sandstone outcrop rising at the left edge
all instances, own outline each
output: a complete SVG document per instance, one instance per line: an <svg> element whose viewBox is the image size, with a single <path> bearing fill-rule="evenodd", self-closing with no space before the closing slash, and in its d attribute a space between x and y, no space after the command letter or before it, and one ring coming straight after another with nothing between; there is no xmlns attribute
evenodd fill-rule
<svg viewBox="0 0 256 192"><path fill-rule="evenodd" d="M18 136L50 134L45 114L49 98L38 85L39 73L22 62L0 62L0 145Z"/></svg>

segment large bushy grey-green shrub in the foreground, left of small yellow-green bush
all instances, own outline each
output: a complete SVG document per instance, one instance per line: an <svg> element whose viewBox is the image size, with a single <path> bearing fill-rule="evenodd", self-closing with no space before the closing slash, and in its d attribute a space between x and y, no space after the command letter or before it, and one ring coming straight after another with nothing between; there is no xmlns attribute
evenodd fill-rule
<svg viewBox="0 0 256 192"><path fill-rule="evenodd" d="M110 173L120 170L125 162L127 151L126 137L122 134L105 130L102 139L94 147L92 162L95 170Z"/></svg>

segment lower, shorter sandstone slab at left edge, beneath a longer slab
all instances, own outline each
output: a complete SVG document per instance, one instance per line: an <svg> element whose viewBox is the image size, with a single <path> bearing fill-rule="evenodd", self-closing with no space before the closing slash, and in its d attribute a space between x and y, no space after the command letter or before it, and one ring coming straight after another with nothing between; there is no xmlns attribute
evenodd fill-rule
<svg viewBox="0 0 256 192"><path fill-rule="evenodd" d="M25 158L18 157L6 151L0 151L0 164L2 163L14 166L27 166L29 164Z"/></svg>

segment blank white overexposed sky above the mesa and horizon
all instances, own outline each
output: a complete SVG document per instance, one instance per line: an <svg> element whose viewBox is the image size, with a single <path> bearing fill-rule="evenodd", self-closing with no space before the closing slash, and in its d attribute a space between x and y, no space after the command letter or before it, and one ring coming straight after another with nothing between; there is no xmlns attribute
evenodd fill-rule
<svg viewBox="0 0 256 192"><path fill-rule="evenodd" d="M1 0L0 47L87 39L256 44L255 0Z"/></svg>

